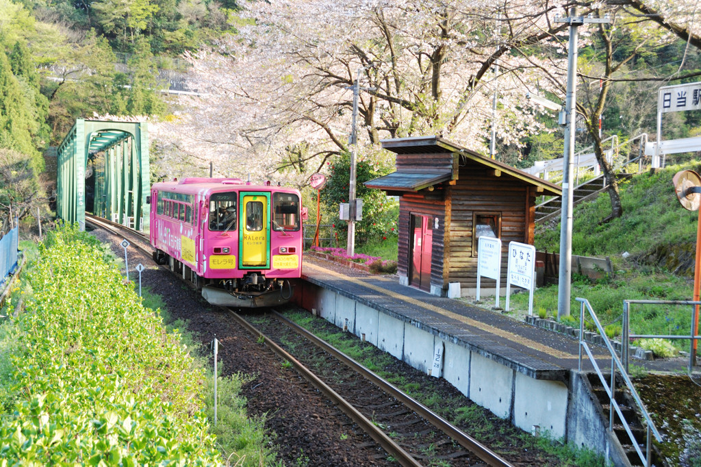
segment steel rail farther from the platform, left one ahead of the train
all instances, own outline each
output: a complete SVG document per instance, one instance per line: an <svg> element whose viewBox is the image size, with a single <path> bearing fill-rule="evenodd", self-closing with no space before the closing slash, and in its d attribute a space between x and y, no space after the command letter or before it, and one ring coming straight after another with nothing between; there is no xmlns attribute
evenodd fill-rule
<svg viewBox="0 0 701 467"><path fill-rule="evenodd" d="M343 411L348 417L355 421L360 428L362 428L365 433L370 435L370 437L375 440L385 451L393 456L397 462L399 462L404 467L421 467L421 463L418 463L414 457L408 452L404 451L400 445L397 445L386 433L384 433L380 428L375 426L371 420L369 420L365 415L358 412L353 405L348 403L345 399L336 393L332 388L327 386L321 379L319 379L315 374L309 371L304 365L302 365L296 358L287 353L282 347L275 344L271 339L268 339L265 334L257 330L256 327L248 323L245 319L238 315L238 313L229 310L229 313L233 315L233 318L245 329L253 334L257 339L262 339L264 344L271 348L280 358L284 358L288 362L292 363L295 370L301 374L304 379L309 381L315 388L321 391L327 398L331 399L338 405L339 409Z"/></svg>

